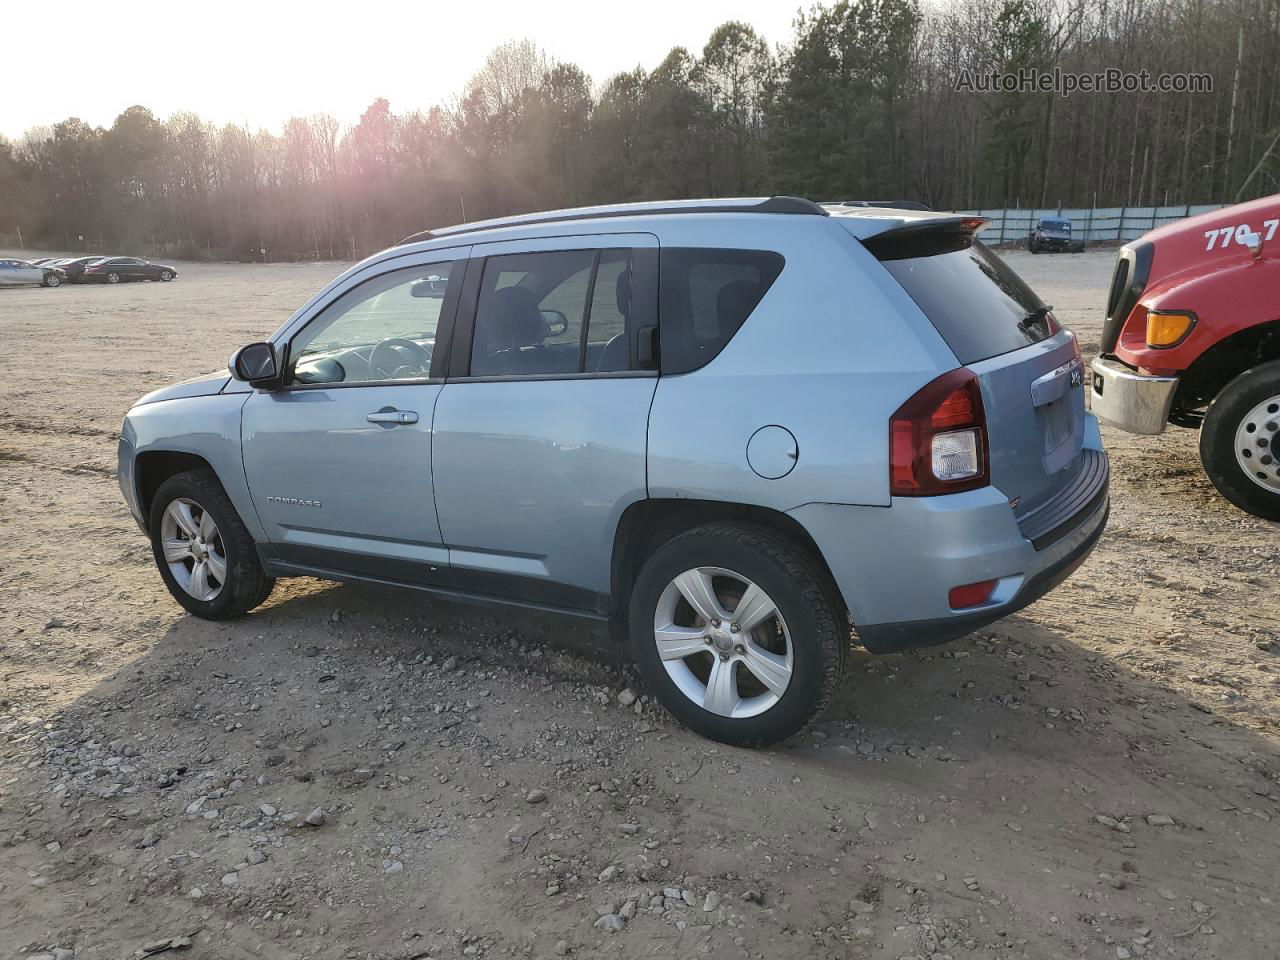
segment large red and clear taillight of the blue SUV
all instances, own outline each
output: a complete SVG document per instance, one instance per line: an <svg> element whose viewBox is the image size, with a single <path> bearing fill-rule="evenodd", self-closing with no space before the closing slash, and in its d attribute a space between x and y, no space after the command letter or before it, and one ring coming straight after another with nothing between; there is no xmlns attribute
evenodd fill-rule
<svg viewBox="0 0 1280 960"><path fill-rule="evenodd" d="M922 387L890 420L888 488L933 497L991 483L978 378L964 367Z"/></svg>

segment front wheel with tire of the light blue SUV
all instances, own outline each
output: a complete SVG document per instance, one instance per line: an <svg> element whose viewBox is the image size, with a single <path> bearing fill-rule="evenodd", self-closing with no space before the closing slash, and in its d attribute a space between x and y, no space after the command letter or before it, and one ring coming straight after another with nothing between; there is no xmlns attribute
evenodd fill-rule
<svg viewBox="0 0 1280 960"><path fill-rule="evenodd" d="M160 484L150 530L160 576L188 613L204 620L238 617L275 586L211 470L177 474Z"/></svg>

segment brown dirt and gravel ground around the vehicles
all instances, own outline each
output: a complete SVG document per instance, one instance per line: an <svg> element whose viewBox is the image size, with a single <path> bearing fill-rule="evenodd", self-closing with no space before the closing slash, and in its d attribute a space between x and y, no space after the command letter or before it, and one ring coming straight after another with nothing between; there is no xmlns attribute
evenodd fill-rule
<svg viewBox="0 0 1280 960"><path fill-rule="evenodd" d="M1010 255L1085 355L1112 257ZM308 580L184 616L120 417L342 266L0 289L0 960L1280 955L1277 529L1192 431L1105 429L1068 584L856 652L769 750L626 705L572 622Z"/></svg>

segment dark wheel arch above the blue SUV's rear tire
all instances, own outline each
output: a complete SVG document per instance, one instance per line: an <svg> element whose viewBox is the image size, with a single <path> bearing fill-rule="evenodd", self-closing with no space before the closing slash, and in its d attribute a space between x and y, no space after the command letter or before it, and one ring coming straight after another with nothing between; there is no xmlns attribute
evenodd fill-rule
<svg viewBox="0 0 1280 960"><path fill-rule="evenodd" d="M611 621L618 626L626 621L631 585L654 550L686 530L707 524L750 524L781 535L805 554L831 594L832 602L847 616L844 596L822 550L795 517L750 503L649 498L632 503L618 520L609 579Z"/></svg>

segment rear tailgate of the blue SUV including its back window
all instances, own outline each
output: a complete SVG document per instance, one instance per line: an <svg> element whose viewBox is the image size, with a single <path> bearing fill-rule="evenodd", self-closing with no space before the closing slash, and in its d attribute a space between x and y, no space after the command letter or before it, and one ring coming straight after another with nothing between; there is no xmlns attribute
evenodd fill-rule
<svg viewBox="0 0 1280 960"><path fill-rule="evenodd" d="M1084 369L1075 338L972 233L900 229L863 241L982 384L991 481L1021 522L1079 486ZM1056 511L1052 511L1056 512Z"/></svg>

